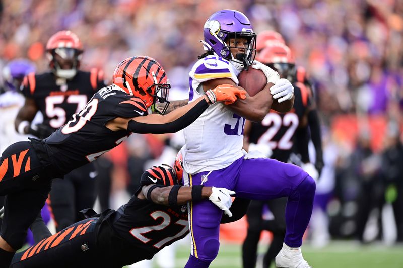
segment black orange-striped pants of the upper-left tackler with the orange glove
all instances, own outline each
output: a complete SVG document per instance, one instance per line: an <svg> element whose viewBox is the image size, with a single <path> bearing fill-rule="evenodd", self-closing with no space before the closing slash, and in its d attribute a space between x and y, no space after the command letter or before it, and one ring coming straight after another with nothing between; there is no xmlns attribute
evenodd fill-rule
<svg viewBox="0 0 403 268"><path fill-rule="evenodd" d="M40 163L28 141L10 145L0 158L0 195L5 195L0 235L15 250L45 204L51 187L49 168Z"/></svg>

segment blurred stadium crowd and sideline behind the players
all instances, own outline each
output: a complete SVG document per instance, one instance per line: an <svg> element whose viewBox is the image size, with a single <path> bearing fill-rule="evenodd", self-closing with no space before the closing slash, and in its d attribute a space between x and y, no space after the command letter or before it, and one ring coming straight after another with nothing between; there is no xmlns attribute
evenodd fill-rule
<svg viewBox="0 0 403 268"><path fill-rule="evenodd" d="M84 44L82 69L102 69L110 81L122 59L148 55L166 69L170 99L185 99L188 71L203 53L203 25L220 9L245 13L257 34L281 33L314 85L325 160L317 198L324 205L308 239L403 242L401 0L6 0L0 67L26 58L47 70L47 40L70 29ZM99 160L112 177L100 178L101 195L132 193L143 168L173 162L182 142L180 135L132 136ZM123 203L110 200L101 207Z"/></svg>

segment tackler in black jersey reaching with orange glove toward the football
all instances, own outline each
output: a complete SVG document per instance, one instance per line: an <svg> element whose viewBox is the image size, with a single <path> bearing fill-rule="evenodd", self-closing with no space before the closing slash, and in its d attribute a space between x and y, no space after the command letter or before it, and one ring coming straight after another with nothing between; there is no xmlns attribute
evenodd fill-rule
<svg viewBox="0 0 403 268"><path fill-rule="evenodd" d="M14 143L0 158L0 195L6 195L0 231L0 262L4 267L43 207L53 178L63 177L95 160L135 133L173 133L191 124L216 102L231 104L246 94L223 84L191 104L163 115L170 84L153 58L130 57L120 62L113 84L99 90L71 120L44 140ZM154 109L157 102L164 109ZM149 114L155 110L156 114Z"/></svg>

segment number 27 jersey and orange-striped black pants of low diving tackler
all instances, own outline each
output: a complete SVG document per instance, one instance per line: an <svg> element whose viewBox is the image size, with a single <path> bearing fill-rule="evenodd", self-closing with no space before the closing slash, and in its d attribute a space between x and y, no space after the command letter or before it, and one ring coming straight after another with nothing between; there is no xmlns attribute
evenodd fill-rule
<svg viewBox="0 0 403 268"><path fill-rule="evenodd" d="M11 267L118 268L151 259L189 233L186 205L170 208L132 196L98 216L16 253Z"/></svg>

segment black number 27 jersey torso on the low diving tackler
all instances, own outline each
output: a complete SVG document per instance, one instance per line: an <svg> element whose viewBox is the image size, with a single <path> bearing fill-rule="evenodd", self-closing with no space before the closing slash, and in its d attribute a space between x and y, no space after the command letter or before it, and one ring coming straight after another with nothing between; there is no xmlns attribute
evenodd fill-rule
<svg viewBox="0 0 403 268"><path fill-rule="evenodd" d="M105 217L104 221L108 223L107 229L113 230L107 233L114 233L119 238L106 239L119 241L115 244L110 242L111 248L108 251L116 252L112 255L119 256L121 265L151 259L162 248L189 233L186 205L167 207L139 199L136 195L116 212ZM102 235L99 239L103 239ZM99 244L104 242L99 241ZM121 250L130 253L121 254Z"/></svg>

